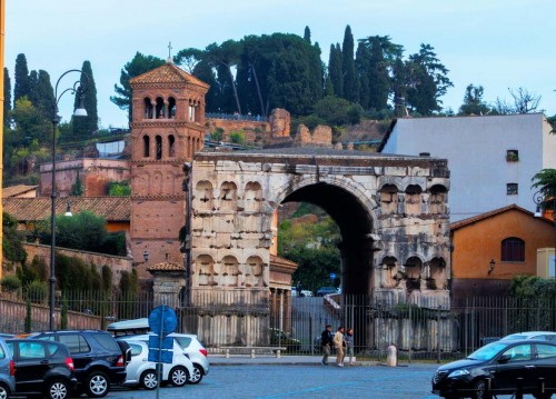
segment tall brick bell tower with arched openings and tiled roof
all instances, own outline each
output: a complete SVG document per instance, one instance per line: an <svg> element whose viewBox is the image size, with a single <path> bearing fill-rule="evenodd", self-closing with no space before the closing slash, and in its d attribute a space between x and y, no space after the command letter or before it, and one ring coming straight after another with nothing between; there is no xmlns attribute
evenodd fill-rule
<svg viewBox="0 0 556 399"><path fill-rule="evenodd" d="M186 223L183 162L205 143L209 86L171 62L130 80L131 248L140 279L147 267L183 265L179 230ZM147 259L147 260L146 260Z"/></svg>

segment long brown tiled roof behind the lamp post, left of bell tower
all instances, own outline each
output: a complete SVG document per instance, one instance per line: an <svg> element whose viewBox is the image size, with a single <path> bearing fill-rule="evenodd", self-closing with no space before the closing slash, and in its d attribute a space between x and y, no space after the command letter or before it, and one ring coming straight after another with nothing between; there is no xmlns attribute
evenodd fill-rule
<svg viewBox="0 0 556 399"><path fill-rule="evenodd" d="M56 201L56 215L63 215L71 206L71 212L82 210L102 216L107 221L129 221L131 199L129 197L63 197ZM49 197L2 198L3 211L19 221L44 220L50 218L52 200Z"/></svg>

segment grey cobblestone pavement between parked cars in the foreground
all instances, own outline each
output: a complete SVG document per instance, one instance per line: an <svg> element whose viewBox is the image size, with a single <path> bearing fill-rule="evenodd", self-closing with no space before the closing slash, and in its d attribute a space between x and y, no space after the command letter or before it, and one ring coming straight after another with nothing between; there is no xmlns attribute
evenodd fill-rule
<svg viewBox="0 0 556 399"><path fill-rule="evenodd" d="M437 398L430 393L436 365L345 367L296 365L214 366L197 386L162 388L163 399L192 398ZM156 398L156 391L112 391L118 399Z"/></svg>

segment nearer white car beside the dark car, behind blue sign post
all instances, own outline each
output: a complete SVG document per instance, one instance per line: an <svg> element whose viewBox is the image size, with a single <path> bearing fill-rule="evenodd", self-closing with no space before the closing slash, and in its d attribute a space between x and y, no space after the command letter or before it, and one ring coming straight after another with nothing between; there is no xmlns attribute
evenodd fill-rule
<svg viewBox="0 0 556 399"><path fill-rule="evenodd" d="M121 337L131 347L131 360L126 367L126 382L131 387L142 387L145 389L157 388L157 363L149 361L149 346L142 340L135 340L131 337ZM162 363L162 382L170 382L175 387L185 386L195 373L193 363L180 348L173 348L172 362Z"/></svg>

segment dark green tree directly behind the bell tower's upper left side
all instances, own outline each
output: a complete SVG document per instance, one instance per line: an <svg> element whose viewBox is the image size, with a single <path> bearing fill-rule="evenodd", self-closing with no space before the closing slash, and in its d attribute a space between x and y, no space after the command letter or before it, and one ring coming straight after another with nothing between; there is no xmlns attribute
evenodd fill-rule
<svg viewBox="0 0 556 399"><path fill-rule="evenodd" d="M120 107L122 110L128 111L128 118L131 121L132 106L131 106L131 86L129 80L142 73L151 71L158 67L163 66L165 61L160 58L152 56L143 56L139 51L135 54L133 59L126 63L120 73L120 86L115 84L113 90L117 96L111 96L110 101Z"/></svg>

